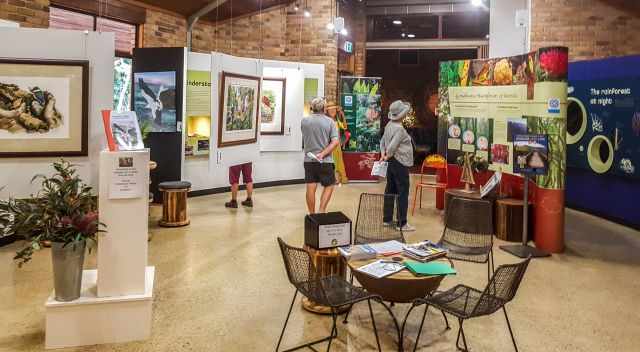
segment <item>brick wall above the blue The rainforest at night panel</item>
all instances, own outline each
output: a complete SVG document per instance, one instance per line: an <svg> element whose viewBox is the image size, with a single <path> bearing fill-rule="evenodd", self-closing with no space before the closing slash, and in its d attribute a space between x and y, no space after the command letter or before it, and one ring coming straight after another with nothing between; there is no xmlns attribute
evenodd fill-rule
<svg viewBox="0 0 640 352"><path fill-rule="evenodd" d="M532 0L531 46L569 47L571 61L640 53L636 1Z"/></svg>

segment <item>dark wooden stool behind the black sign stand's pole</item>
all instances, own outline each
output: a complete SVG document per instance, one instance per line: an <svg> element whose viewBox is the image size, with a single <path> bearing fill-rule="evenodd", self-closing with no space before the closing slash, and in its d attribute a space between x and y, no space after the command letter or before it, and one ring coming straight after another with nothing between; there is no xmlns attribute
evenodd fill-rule
<svg viewBox="0 0 640 352"><path fill-rule="evenodd" d="M509 242L522 242L522 211L524 201L516 198L504 198L496 201L496 237ZM529 202L529 219L532 219L533 203ZM529 238L533 229L529 221Z"/></svg>

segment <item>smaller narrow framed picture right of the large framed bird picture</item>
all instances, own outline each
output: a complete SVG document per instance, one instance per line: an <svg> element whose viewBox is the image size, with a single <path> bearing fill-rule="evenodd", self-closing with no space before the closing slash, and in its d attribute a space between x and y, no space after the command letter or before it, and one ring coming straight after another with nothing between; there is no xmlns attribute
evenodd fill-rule
<svg viewBox="0 0 640 352"><path fill-rule="evenodd" d="M287 79L263 78L260 89L260 134L284 135Z"/></svg>

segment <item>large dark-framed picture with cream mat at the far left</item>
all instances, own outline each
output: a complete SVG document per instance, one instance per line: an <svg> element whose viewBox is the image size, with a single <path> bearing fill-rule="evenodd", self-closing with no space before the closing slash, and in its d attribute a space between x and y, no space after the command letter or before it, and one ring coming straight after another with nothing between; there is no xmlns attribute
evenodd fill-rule
<svg viewBox="0 0 640 352"><path fill-rule="evenodd" d="M89 61L0 58L0 157L86 156Z"/></svg>

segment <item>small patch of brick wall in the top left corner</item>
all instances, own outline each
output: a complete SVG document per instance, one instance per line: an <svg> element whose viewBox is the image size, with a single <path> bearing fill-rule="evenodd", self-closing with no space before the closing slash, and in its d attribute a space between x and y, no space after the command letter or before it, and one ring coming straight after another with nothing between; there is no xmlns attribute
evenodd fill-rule
<svg viewBox="0 0 640 352"><path fill-rule="evenodd" d="M0 19L22 27L49 27L49 0L0 0Z"/></svg>

